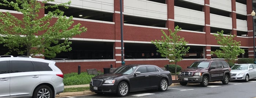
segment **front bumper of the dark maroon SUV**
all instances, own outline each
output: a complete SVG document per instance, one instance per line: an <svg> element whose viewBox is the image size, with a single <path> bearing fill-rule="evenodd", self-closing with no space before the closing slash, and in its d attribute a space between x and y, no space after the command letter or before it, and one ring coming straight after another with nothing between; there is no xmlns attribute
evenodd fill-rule
<svg viewBox="0 0 256 98"><path fill-rule="evenodd" d="M180 76L178 75L180 82L199 83L202 82L202 76Z"/></svg>

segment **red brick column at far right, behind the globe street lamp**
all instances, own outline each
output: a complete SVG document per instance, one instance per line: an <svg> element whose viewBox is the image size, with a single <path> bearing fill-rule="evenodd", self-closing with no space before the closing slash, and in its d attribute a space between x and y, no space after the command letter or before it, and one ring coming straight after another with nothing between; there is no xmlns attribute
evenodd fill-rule
<svg viewBox="0 0 256 98"><path fill-rule="evenodd" d="M246 0L247 4L247 30L248 30L248 37L249 37L249 48L248 54L249 58L254 58L253 55L253 19L252 19L252 0Z"/></svg>

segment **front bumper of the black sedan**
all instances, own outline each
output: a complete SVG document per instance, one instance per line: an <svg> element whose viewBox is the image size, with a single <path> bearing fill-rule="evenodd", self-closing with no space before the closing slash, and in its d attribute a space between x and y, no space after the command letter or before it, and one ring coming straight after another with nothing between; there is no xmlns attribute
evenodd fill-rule
<svg viewBox="0 0 256 98"><path fill-rule="evenodd" d="M92 86L90 83L90 91L96 93L116 93L117 86L116 85L101 85L99 87Z"/></svg>

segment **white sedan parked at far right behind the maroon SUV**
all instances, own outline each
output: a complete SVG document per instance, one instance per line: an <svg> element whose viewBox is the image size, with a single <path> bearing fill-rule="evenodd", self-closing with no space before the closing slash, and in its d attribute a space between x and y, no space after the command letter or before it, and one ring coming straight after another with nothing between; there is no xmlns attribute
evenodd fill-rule
<svg viewBox="0 0 256 98"><path fill-rule="evenodd" d="M231 67L230 80L244 80L248 82L249 79L256 78L255 64L235 64Z"/></svg>

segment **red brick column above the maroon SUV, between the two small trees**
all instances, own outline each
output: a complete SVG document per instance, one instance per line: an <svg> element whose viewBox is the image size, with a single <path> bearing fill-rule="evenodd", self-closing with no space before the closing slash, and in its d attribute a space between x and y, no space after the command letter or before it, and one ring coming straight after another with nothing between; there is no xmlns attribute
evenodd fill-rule
<svg viewBox="0 0 256 98"><path fill-rule="evenodd" d="M205 32L205 45L210 45L211 42L211 27L210 27L210 1L204 0L204 32ZM205 58L211 60L211 46L205 46Z"/></svg>

